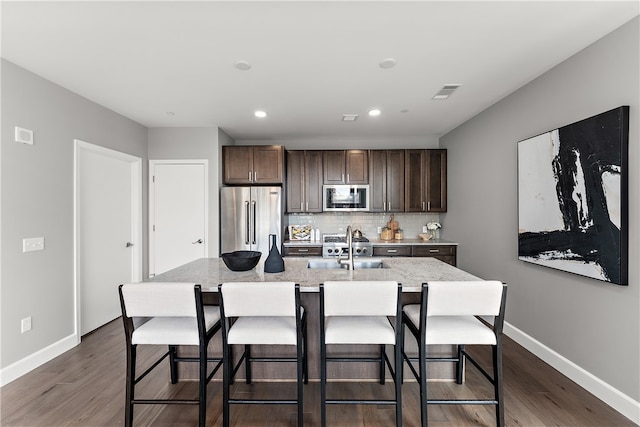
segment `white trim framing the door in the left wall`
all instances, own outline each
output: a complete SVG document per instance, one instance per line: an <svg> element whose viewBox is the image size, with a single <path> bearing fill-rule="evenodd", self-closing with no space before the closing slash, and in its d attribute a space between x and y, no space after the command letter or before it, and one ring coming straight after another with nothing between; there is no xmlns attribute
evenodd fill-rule
<svg viewBox="0 0 640 427"><path fill-rule="evenodd" d="M81 341L81 284L80 284L80 153L93 151L108 157L129 162L131 167L131 235L136 244L131 259L131 281L142 281L142 159L131 154L91 144L79 139L73 140L73 293L76 344Z"/></svg>

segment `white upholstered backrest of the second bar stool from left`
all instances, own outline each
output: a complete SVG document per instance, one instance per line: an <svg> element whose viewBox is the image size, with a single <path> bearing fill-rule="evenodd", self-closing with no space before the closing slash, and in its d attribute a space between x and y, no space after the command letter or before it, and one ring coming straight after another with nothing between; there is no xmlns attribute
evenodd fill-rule
<svg viewBox="0 0 640 427"><path fill-rule="evenodd" d="M295 316L294 282L234 282L220 287L226 317Z"/></svg>

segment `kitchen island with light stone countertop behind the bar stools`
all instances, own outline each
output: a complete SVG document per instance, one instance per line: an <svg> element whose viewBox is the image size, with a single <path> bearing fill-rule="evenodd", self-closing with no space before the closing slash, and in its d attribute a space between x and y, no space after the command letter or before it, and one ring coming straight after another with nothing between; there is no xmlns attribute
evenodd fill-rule
<svg viewBox="0 0 640 427"><path fill-rule="evenodd" d="M320 258L322 259L322 258ZM371 258L368 258L371 259ZM220 258L203 258L183 266L177 267L153 278L155 282L190 282L199 283L205 292L206 303L217 303L218 284L225 282L295 282L300 284L303 292L302 305L307 310L308 322L308 356L309 378L319 378L319 353L320 353L320 319L319 319L319 285L329 280L393 280L402 283L403 304L418 303L422 283L436 280L481 280L459 268L453 267L435 258L381 258L385 268L371 269L312 269L307 268L310 258L286 257L285 271L281 273L265 273L264 261L249 271L231 271ZM331 261L331 260L329 260ZM337 261L336 261L337 266ZM220 336L216 336L210 344L211 354L220 354ZM411 334L406 334L407 354L417 354L417 347ZM181 349L184 351L185 349ZM285 349L288 351L289 349ZM294 354L293 348L290 354ZM256 347L252 349L254 355L275 356L282 355L282 346ZM330 348L331 351L331 348ZM357 352L358 354L375 355L377 346L341 346L341 351ZM451 355L452 346L433 346L429 349L429 355ZM237 352L239 353L239 352ZM288 354L288 353L287 353ZM239 355L237 355L239 356ZM196 370L190 367L181 367L181 378L197 378ZM378 366L375 363L343 363L331 364L328 378L332 381L377 381ZM243 378L242 370L238 372L238 378ZM455 377L452 364L433 364L429 368L429 379L450 380ZM286 364L256 363L253 365L253 378L261 379L295 380L295 368ZM405 370L405 379L413 381L408 369Z"/></svg>

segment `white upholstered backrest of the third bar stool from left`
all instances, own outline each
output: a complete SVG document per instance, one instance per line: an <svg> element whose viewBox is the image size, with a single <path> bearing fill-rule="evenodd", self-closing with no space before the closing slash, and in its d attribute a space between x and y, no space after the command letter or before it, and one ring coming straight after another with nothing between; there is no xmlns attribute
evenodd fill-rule
<svg viewBox="0 0 640 427"><path fill-rule="evenodd" d="M325 316L395 316L398 282L327 281L324 289Z"/></svg>

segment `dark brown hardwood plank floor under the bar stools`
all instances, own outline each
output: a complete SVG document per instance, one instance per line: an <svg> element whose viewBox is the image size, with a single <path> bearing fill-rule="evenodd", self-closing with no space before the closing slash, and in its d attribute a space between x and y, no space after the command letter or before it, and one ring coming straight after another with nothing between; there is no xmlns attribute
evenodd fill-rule
<svg viewBox="0 0 640 427"><path fill-rule="evenodd" d="M140 351L141 361L151 359L161 349ZM473 349L472 349L473 351ZM481 353L478 353L481 354ZM626 417L596 399L549 365L506 338L504 345L505 420L508 426L635 426ZM487 357L478 357L483 365ZM82 344L0 389L2 426L117 426L124 421L125 352L122 323L117 319L86 336ZM219 377L222 373L216 374ZM463 385L429 383L430 395L476 397L491 391L486 381L469 366ZM158 369L138 387L147 396L187 396L197 393L197 383L171 385L167 369ZM420 424L419 391L415 382L403 385L404 426ZM391 396L393 383L330 383L330 396ZM236 396L295 396L292 383L236 382ZM304 387L305 425L320 425L320 387L310 382ZM353 394L352 394L353 395ZM194 426L196 406L140 406L134 425ZM429 406L429 425L494 426L493 407ZM293 407L232 406L234 426L294 426ZM329 406L331 426L390 426L394 409L390 406ZM208 387L207 425L222 425L222 383Z"/></svg>

